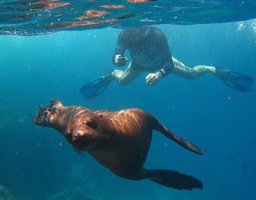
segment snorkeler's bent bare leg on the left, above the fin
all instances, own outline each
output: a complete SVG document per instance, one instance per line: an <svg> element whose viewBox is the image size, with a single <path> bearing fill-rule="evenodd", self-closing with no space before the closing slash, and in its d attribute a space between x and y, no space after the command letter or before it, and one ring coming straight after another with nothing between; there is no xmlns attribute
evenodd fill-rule
<svg viewBox="0 0 256 200"><path fill-rule="evenodd" d="M126 86L132 82L134 78L137 78L138 75L142 74L142 71L134 70L133 62L130 62L125 71L114 70L111 74L112 77L120 84L120 86Z"/></svg>

